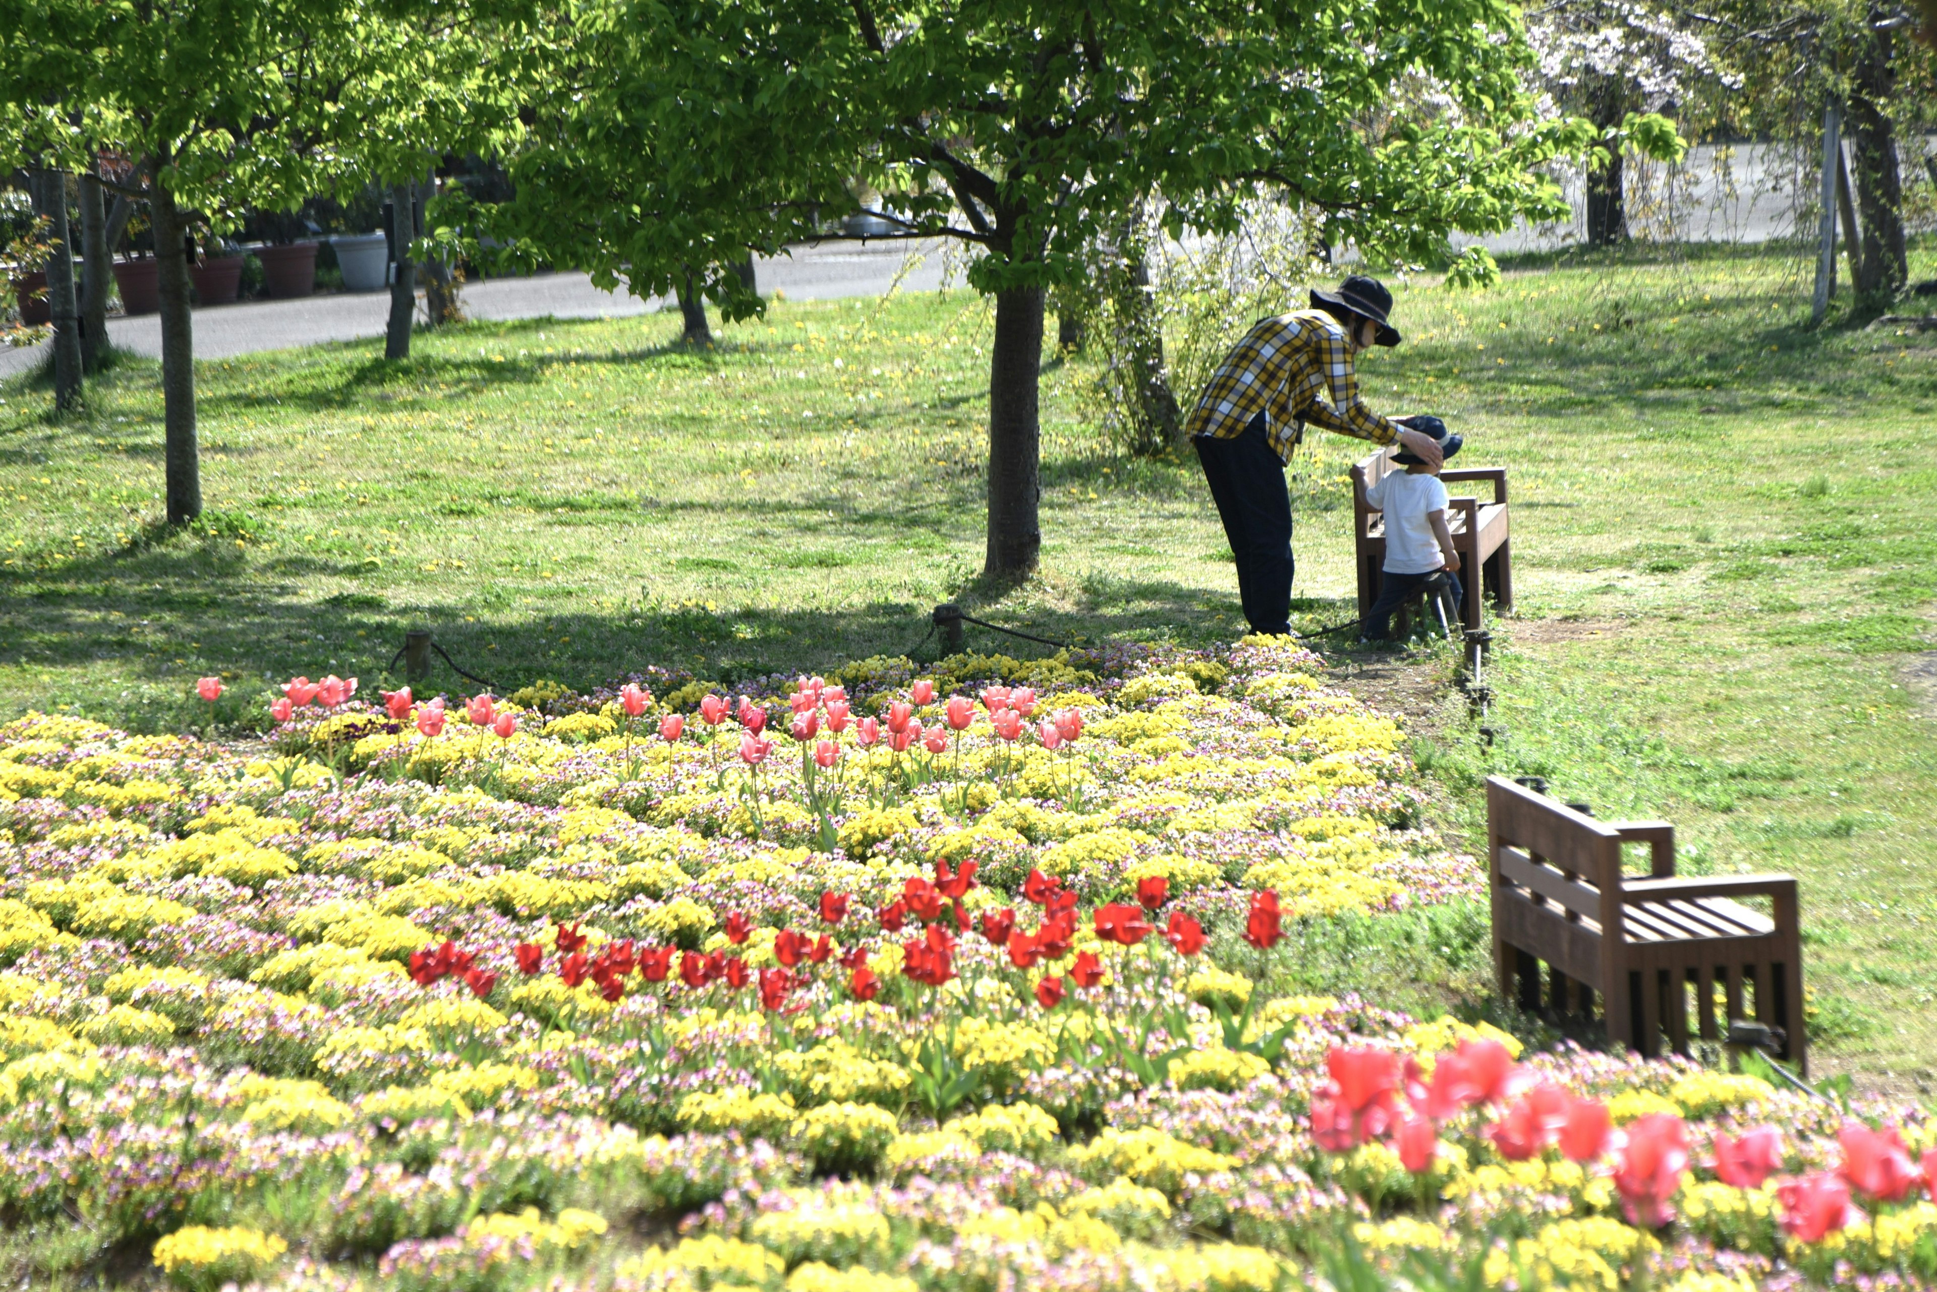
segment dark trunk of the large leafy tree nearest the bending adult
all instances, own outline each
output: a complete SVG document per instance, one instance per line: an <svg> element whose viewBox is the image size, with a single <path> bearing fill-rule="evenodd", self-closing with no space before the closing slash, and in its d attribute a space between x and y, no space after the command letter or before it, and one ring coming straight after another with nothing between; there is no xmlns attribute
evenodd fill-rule
<svg viewBox="0 0 1937 1292"><path fill-rule="evenodd" d="M1042 527L1040 422L1042 289L996 296L996 347L988 364L988 558L982 573L1015 583L1036 569Z"/></svg>

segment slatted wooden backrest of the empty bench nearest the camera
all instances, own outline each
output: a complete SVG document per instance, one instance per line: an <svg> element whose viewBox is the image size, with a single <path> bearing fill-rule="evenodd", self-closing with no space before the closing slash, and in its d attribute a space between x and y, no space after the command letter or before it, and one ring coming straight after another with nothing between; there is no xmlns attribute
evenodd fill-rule
<svg viewBox="0 0 1937 1292"><path fill-rule="evenodd" d="M1598 920L1621 939L1621 835L1544 794L1486 779L1488 879L1546 899L1561 918ZM1573 916L1565 914L1573 912Z"/></svg>

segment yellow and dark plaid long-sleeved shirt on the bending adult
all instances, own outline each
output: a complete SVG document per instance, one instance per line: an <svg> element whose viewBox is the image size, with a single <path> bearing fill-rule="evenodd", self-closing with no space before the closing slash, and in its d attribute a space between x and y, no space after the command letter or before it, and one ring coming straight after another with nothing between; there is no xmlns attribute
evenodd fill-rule
<svg viewBox="0 0 1937 1292"><path fill-rule="evenodd" d="M1352 343L1323 310L1280 314L1251 327L1211 376L1184 430L1232 440L1259 409L1271 447L1284 461L1292 461L1306 422L1373 444L1399 442L1399 426L1358 397Z"/></svg>

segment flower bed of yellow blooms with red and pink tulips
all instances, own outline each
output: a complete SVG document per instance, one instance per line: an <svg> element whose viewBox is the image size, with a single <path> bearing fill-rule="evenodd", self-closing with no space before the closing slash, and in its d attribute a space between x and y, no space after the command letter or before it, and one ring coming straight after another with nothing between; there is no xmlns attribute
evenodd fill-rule
<svg viewBox="0 0 1937 1292"><path fill-rule="evenodd" d="M1937 1275L1922 1114L1290 994L1478 879L1315 657L945 664L0 728L0 1215L184 1288Z"/></svg>

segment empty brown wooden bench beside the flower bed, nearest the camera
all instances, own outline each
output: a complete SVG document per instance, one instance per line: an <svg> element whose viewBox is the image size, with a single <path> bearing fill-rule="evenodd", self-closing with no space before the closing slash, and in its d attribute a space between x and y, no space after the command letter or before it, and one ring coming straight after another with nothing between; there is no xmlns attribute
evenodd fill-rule
<svg viewBox="0 0 1937 1292"><path fill-rule="evenodd" d="M1499 992L1542 1007L1540 965L1550 967L1546 1005L1584 1017L1602 1000L1608 1038L1658 1056L1662 1036L1687 1054L1687 990L1705 1040L1747 1019L1782 1029L1778 1056L1807 1075L1803 963L1790 876L1676 877L1676 827L1666 821L1594 817L1528 788L1486 781L1488 887ZM1648 845L1646 876L1621 870L1623 845ZM1739 899L1768 899L1761 914ZM1726 1017L1716 1029L1714 992Z"/></svg>

